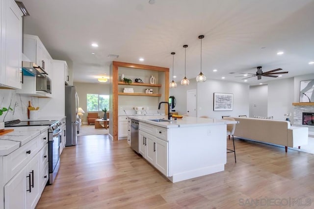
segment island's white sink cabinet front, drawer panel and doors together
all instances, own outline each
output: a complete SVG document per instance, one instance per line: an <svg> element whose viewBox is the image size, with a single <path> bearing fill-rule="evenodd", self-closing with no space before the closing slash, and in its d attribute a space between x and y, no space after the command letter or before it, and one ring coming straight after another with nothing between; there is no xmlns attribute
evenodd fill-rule
<svg viewBox="0 0 314 209"><path fill-rule="evenodd" d="M139 154L154 165L162 174L168 176L168 137L167 129L163 129L162 127L140 122ZM162 139L151 135L152 133L159 133L159 135L155 136Z"/></svg>

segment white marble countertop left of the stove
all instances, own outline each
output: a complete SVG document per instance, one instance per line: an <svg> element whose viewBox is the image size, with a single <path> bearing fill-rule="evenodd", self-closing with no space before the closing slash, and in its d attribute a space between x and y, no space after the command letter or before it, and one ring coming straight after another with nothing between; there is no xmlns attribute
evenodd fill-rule
<svg viewBox="0 0 314 209"><path fill-rule="evenodd" d="M7 127L14 129L5 135L0 136L0 156L5 156L26 144L31 139L47 131L49 126L22 126Z"/></svg>

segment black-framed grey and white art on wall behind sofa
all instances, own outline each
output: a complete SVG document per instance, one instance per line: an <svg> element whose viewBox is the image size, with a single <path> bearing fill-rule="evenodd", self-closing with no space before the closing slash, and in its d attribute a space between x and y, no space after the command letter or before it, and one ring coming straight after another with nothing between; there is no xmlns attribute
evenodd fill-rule
<svg viewBox="0 0 314 209"><path fill-rule="evenodd" d="M231 111L233 103L233 93L214 93L214 111Z"/></svg>

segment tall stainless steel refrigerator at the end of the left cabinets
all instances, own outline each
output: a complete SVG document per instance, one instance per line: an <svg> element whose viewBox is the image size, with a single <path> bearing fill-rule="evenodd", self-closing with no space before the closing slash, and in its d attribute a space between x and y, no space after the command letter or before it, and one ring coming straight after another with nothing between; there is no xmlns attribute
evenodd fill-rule
<svg viewBox="0 0 314 209"><path fill-rule="evenodd" d="M65 86L66 143L77 145L78 93L75 86Z"/></svg>

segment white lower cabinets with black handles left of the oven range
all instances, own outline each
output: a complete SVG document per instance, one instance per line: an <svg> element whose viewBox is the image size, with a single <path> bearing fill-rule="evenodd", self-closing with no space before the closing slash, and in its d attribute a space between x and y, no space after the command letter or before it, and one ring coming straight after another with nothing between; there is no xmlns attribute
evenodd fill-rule
<svg viewBox="0 0 314 209"><path fill-rule="evenodd" d="M4 209L34 209L48 181L48 131L2 160Z"/></svg>

